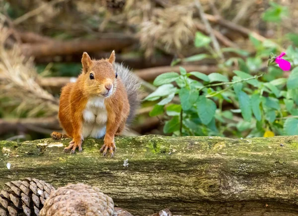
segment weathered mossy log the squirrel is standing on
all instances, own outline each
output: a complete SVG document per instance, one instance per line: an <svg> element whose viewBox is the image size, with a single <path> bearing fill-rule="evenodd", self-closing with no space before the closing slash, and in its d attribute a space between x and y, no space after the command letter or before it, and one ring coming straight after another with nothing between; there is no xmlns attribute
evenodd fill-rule
<svg viewBox="0 0 298 216"><path fill-rule="evenodd" d="M55 187L82 182L143 216L164 208L181 215L298 216L298 136L117 137L114 158L99 153L102 140L86 139L74 155L63 153L69 142L0 141L0 187L24 177Z"/></svg>

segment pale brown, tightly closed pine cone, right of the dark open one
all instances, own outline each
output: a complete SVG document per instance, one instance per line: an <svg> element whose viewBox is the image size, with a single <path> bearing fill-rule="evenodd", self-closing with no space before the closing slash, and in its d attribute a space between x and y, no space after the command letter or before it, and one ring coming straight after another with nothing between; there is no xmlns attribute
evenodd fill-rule
<svg viewBox="0 0 298 216"><path fill-rule="evenodd" d="M112 216L114 202L98 188L70 184L58 188L46 200L40 216Z"/></svg>

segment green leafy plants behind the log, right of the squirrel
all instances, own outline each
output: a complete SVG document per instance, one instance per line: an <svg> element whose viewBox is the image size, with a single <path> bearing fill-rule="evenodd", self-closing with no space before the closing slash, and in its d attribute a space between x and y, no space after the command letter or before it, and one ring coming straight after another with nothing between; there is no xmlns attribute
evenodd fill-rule
<svg viewBox="0 0 298 216"><path fill-rule="evenodd" d="M279 23L287 15L287 7L271 2L263 19ZM297 34L288 34L287 38L298 44ZM210 37L196 33L195 47L209 53L176 59L172 65L213 58L220 62L219 71L206 75L199 71L187 73L180 67L180 74L170 72L155 79L153 84L159 87L146 100L158 100L150 115L164 113L165 133L237 137L298 135L298 48L290 45L286 50L283 58L291 62L292 71L289 78L284 78L284 72L275 63L281 50L278 43L260 41L254 33L249 40L255 48L254 55L237 48L222 48L224 55L236 55L223 62L212 48ZM230 79L228 74L233 65L238 68ZM268 65L265 72L264 65ZM175 96L180 103L172 102ZM230 106L224 107L224 102Z"/></svg>

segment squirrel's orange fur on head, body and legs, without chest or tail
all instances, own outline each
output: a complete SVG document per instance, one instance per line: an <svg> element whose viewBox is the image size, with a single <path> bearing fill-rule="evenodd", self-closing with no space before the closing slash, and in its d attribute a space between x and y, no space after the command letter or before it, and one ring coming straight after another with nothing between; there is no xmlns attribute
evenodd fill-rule
<svg viewBox="0 0 298 216"><path fill-rule="evenodd" d="M73 137L70 145L65 148L66 151L71 150L71 153L74 153L76 148L79 151L82 150L83 110L86 108L88 99L102 96L107 110L107 122L104 144L100 151L105 155L109 150L113 156L113 150L116 149L115 134L120 134L123 131L130 112L126 89L120 77L115 77L112 65L114 61L114 51L109 59L102 60L91 60L87 53L83 53L82 73L75 83L69 83L63 87L59 119L67 136ZM89 79L90 73L94 75L94 80ZM104 94L109 93L107 88L110 86L113 86L112 94L105 97Z"/></svg>

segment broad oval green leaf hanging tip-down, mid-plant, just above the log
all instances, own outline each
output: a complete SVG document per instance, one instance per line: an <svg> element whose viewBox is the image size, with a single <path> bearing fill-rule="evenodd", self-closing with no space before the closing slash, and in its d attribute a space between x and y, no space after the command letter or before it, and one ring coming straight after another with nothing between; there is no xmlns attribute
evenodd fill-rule
<svg viewBox="0 0 298 216"><path fill-rule="evenodd" d="M207 125L215 115L216 104L205 96L200 96L197 101L197 111L202 123Z"/></svg>

